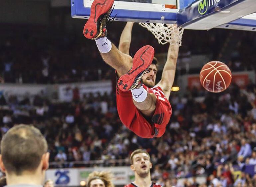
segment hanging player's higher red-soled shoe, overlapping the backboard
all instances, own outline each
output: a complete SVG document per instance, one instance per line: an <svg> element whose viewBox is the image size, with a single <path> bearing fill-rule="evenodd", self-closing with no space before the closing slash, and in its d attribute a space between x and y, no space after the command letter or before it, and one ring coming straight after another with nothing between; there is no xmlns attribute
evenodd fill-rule
<svg viewBox="0 0 256 187"><path fill-rule="evenodd" d="M114 0L94 0L91 5L90 18L83 28L83 35L95 40L107 36L107 20L110 17Z"/></svg>

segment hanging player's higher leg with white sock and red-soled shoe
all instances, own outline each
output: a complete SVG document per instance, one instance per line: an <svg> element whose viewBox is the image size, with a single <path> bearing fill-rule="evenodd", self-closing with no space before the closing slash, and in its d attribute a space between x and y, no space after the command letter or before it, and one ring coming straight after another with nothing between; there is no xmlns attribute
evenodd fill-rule
<svg viewBox="0 0 256 187"><path fill-rule="evenodd" d="M110 17L114 0L95 0L91 6L90 18L83 32L88 39L94 39L103 60L117 70L118 76L127 73L132 67L132 57L122 53L107 36L107 20Z"/></svg>

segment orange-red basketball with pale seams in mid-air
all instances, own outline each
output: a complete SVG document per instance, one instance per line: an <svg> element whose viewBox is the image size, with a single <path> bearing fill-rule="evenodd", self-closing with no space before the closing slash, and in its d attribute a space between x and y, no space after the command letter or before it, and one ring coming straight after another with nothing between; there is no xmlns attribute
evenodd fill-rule
<svg viewBox="0 0 256 187"><path fill-rule="evenodd" d="M209 92L222 92L231 83L232 74L229 67L220 61L211 61L203 66L200 72L200 82Z"/></svg>

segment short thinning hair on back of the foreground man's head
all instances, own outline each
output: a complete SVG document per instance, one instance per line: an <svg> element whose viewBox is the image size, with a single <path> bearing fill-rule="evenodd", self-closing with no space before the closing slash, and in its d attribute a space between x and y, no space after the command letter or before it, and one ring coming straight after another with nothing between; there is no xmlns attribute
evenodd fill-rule
<svg viewBox="0 0 256 187"><path fill-rule="evenodd" d="M35 171L48 146L41 132L30 125L17 125L3 136L1 154L6 171L21 175Z"/></svg>

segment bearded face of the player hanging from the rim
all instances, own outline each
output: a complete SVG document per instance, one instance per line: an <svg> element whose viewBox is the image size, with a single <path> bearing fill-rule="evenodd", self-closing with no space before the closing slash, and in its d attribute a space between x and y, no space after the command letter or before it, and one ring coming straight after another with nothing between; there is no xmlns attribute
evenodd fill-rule
<svg viewBox="0 0 256 187"><path fill-rule="evenodd" d="M155 64L151 64L148 68L149 73L145 73L142 77L142 82L146 86L152 88L155 86L156 76L157 76L157 66Z"/></svg>

